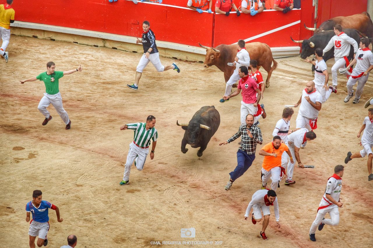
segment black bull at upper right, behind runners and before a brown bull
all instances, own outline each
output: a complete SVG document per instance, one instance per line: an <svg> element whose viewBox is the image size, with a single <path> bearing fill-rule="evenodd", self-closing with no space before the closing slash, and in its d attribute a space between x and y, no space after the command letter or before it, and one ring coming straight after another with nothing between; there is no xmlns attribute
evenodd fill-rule
<svg viewBox="0 0 373 248"><path fill-rule="evenodd" d="M347 28L347 29L343 29L343 32L345 32L348 36L350 36L352 39L354 39L357 42L357 45L360 44L360 35L359 35L358 31L356 31L355 29L348 29ZM303 41L295 41L291 37L290 38L292 39L292 41L294 41L296 43L302 43L301 58L305 59L308 56L314 55L316 48L320 47L320 48L324 49L326 47L326 45L328 44L328 42L330 41L330 39L334 35L335 34L334 34L333 30L328 30L328 31L317 33L317 34L311 36L311 38L305 39ZM350 60L350 61L354 58L354 47L352 47L352 45L350 47L350 54L347 57L348 57L348 60ZM325 62L327 60L329 60L330 58L334 58L334 47L332 47L332 49L327 51L324 54L323 58L324 58ZM314 71L314 70L315 70L315 66L313 65L312 66L312 71Z"/></svg>

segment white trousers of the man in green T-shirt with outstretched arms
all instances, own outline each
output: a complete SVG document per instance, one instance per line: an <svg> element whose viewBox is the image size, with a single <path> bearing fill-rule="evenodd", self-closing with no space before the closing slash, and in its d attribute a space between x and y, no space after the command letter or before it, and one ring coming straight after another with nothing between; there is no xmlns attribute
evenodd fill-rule
<svg viewBox="0 0 373 248"><path fill-rule="evenodd" d="M62 97L61 97L60 92L54 95L49 95L47 93L44 93L43 98L41 98L38 109L41 112L41 114L43 114L46 118L49 118L50 116L50 113L47 110L49 104L52 104L54 106L54 108L56 109L57 113L60 115L63 122L65 122L66 125L69 124L69 121L70 121L69 115L65 111L65 109L63 109Z"/></svg>

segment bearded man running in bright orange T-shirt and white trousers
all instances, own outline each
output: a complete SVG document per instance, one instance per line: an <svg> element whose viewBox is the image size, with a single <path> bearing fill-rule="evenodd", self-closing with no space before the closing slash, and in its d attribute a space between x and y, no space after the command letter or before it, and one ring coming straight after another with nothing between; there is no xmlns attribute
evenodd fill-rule
<svg viewBox="0 0 373 248"><path fill-rule="evenodd" d="M260 149L259 155L264 156L263 168L261 169L262 189L266 189L269 178L272 179L271 188L275 190L278 188L281 173L281 156L283 152L288 153L290 161L294 162L288 146L281 143L280 136L273 137L273 141L263 146Z"/></svg>

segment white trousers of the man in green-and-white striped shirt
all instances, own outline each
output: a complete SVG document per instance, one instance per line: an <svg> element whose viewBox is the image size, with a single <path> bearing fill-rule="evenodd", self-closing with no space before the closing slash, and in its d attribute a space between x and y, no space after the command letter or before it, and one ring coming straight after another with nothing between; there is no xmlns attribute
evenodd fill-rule
<svg viewBox="0 0 373 248"><path fill-rule="evenodd" d="M127 155L127 160L124 165L124 174L123 174L123 181L129 181L129 173L131 172L131 166L134 162L136 156L136 168L141 171L144 168L146 156L149 153L149 148L143 149L136 146L133 142L129 144L129 150Z"/></svg>

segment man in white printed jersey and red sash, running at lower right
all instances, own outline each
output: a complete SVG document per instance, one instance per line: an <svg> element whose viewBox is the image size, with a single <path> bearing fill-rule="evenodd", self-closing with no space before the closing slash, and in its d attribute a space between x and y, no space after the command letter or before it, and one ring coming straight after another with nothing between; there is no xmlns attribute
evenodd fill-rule
<svg viewBox="0 0 373 248"><path fill-rule="evenodd" d="M316 228L319 226L319 231L324 228L324 225L338 226L339 224L339 210L342 207L341 195L342 190L342 176L344 172L343 165L337 165L334 168L334 174L327 179L326 190L323 198L320 201L320 207L317 209L316 219L310 228L310 239L316 241ZM330 219L325 219L324 216L329 213Z"/></svg>

